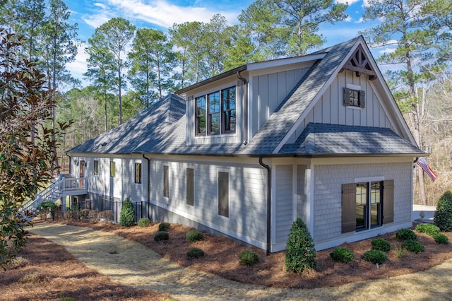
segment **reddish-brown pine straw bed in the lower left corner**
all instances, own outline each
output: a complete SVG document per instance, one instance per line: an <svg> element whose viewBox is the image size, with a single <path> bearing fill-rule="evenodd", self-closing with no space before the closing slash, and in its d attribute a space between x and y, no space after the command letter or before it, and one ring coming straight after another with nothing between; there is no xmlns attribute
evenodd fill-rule
<svg viewBox="0 0 452 301"><path fill-rule="evenodd" d="M31 235L18 264L0 271L1 300L167 300L169 294L113 283L64 247ZM72 298L72 299L71 299Z"/></svg>

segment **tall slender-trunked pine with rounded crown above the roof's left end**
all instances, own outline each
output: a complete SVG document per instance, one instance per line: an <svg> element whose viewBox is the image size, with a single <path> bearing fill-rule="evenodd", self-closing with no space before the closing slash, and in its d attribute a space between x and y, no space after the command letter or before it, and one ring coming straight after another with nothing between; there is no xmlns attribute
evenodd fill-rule
<svg viewBox="0 0 452 301"><path fill-rule="evenodd" d="M109 52L107 59L112 59L107 64L107 69L114 71L117 75L115 83L119 99L119 124L122 124L122 98L121 90L125 87L122 72L127 66L126 45L131 42L135 35L135 25L124 18L112 18L95 29L95 33L88 40L93 49L102 49Z"/></svg>

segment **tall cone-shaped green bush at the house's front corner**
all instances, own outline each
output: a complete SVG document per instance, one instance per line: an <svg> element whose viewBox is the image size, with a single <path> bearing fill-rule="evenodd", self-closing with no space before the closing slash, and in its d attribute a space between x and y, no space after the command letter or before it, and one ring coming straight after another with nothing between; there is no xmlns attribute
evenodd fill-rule
<svg viewBox="0 0 452 301"><path fill-rule="evenodd" d="M317 267L316 249L307 226L301 218L297 218L290 228L285 252L285 269L300 273Z"/></svg>

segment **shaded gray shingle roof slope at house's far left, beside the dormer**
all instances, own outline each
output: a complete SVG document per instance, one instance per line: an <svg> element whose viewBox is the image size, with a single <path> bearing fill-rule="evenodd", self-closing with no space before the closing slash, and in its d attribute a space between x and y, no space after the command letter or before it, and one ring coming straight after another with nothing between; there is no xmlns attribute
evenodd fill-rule
<svg viewBox="0 0 452 301"><path fill-rule="evenodd" d="M133 153L143 143L157 143L159 138L168 136L184 114L185 100L168 95L124 124L71 148L68 153Z"/></svg>

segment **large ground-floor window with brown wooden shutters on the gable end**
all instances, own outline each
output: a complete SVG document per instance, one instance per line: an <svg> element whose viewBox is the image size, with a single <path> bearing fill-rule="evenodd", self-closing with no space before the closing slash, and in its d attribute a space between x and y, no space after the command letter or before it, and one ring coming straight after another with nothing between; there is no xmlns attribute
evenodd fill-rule
<svg viewBox="0 0 452 301"><path fill-rule="evenodd" d="M393 180L343 184L342 193L343 233L393 222Z"/></svg>

